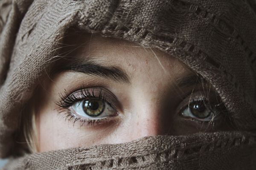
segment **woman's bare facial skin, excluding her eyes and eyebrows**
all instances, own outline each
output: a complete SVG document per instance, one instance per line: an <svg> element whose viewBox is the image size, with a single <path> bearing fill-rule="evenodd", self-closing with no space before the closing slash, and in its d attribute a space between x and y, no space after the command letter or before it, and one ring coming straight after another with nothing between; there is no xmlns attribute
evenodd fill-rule
<svg viewBox="0 0 256 170"><path fill-rule="evenodd" d="M38 88L36 125L39 152L96 144L130 142L143 136L184 135L221 130L221 121L212 124L181 112L193 96L206 96L201 83L177 87L180 77L195 75L177 59L151 48L99 35L82 34L66 38L63 54L79 61L116 66L125 71L129 83L75 71L56 71ZM78 48L70 45L80 44ZM157 56L157 57L156 57ZM57 61L56 68L58 68ZM69 61L73 62L73 61ZM65 63L65 62L63 62ZM60 95L80 88L101 87L112 93L118 114L108 121L88 125L66 117L68 109L56 105ZM193 93L192 93L193 92ZM203 92L203 93L202 93ZM213 93L215 95L215 93ZM62 109L61 113L60 109ZM220 122L220 123L218 123ZM224 128L223 128L224 129Z"/></svg>

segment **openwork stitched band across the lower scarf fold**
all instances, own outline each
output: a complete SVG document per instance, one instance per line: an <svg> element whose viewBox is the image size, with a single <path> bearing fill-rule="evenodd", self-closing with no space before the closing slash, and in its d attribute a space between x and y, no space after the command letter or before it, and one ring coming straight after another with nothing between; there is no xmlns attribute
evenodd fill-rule
<svg viewBox="0 0 256 170"><path fill-rule="evenodd" d="M127 168L127 166L129 166L130 168L147 167L147 166L150 166L150 164L154 164L155 162L169 163L177 159L182 159L183 155L195 156L197 154L204 153L207 151L210 151L210 152L214 151L217 148L228 147L230 150L232 150L233 147L242 147L244 145L253 145L253 144L256 144L255 136L249 136L247 138L245 138L245 136L242 136L240 138L226 139L225 141L218 140L202 146L195 146L195 147L186 146L188 148L184 147L180 150L173 150L172 148L168 148L163 150L160 153L150 153L145 156L122 157L122 158L114 158L114 159L108 159L104 161L98 161L93 164L79 164L79 165L69 166L68 169L71 170L73 168L76 168L76 169L78 168L77 170L85 170L86 168L89 168L89 167L92 169L95 169L93 167L102 167L102 169L105 169L105 168L108 169L108 168L116 168L116 167ZM134 158L136 159L136 161L134 161ZM136 164L138 165L136 166Z"/></svg>

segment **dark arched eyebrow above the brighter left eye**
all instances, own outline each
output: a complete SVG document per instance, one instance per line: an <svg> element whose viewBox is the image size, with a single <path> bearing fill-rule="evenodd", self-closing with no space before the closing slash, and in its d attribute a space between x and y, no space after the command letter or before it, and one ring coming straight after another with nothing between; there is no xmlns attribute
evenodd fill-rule
<svg viewBox="0 0 256 170"><path fill-rule="evenodd" d="M72 62L71 62L72 63ZM115 82L122 82L125 84L130 84L130 77L121 68L115 66L104 66L94 62L83 62L81 64L72 63L67 65L62 65L58 68L58 72L62 71L74 71L89 75L95 75L107 79L111 79Z"/></svg>

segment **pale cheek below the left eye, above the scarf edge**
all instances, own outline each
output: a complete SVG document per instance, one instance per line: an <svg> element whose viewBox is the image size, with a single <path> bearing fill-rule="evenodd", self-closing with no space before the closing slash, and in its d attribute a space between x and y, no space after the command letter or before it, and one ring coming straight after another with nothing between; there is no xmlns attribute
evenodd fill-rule
<svg viewBox="0 0 256 170"><path fill-rule="evenodd" d="M127 133L125 127L118 126L116 122L102 126L80 126L78 122L74 123L69 119L66 115L55 111L53 106L41 107L36 119L39 152L125 142L123 141ZM119 133L120 131L122 133Z"/></svg>

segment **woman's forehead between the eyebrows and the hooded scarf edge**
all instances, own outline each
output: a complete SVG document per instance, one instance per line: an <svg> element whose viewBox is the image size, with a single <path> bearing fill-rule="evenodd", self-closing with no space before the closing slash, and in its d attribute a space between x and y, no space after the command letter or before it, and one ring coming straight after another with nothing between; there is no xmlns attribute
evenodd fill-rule
<svg viewBox="0 0 256 170"><path fill-rule="evenodd" d="M68 34L64 40L64 57L80 64L93 61L97 64L118 66L128 72L150 70L152 67L168 72L192 73L175 57L153 48L143 47L133 42L102 37L84 32Z"/></svg>

